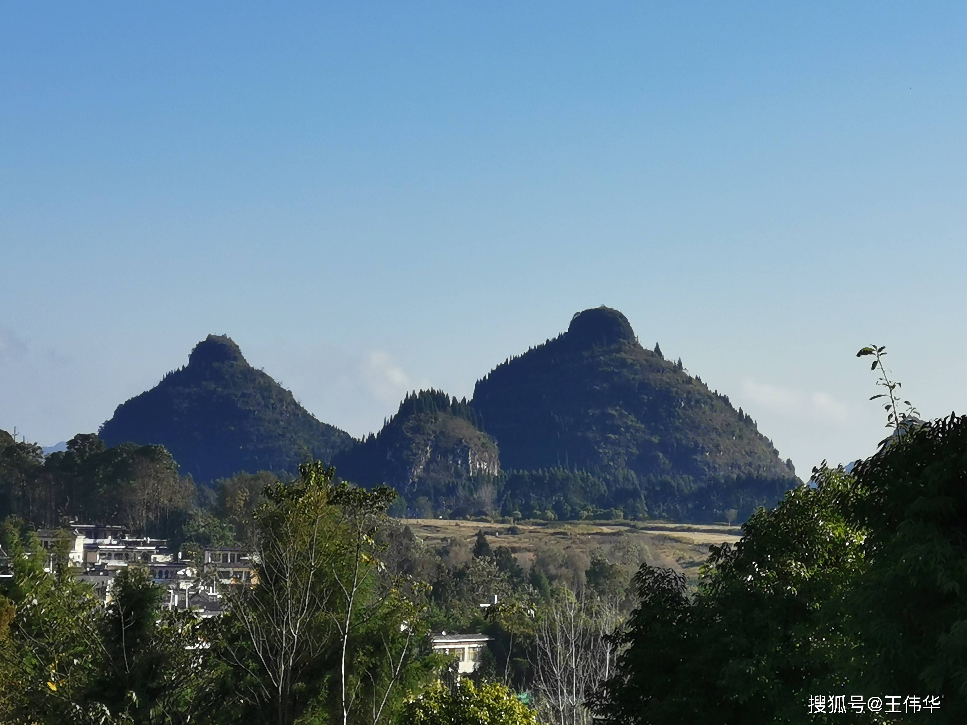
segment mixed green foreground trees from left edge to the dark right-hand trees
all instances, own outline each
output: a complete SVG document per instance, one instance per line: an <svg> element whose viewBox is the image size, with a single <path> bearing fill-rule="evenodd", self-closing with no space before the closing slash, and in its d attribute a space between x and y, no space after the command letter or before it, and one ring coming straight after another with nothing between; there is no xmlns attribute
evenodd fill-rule
<svg viewBox="0 0 967 725"><path fill-rule="evenodd" d="M0 687L0 722L371 724L468 708L532 721L512 690L487 681L527 693L551 721L566 710L588 722L585 694L613 661L604 635L627 611L642 553L616 539L589 559L549 541L522 565L483 531L473 546L434 548L386 516L394 495L338 483L320 463L289 483L221 480L205 514L222 530L247 527L257 585L227 590L227 613L205 621L163 608L164 590L136 565L103 606L66 550L42 549L32 526L9 518L0 682L13 688ZM492 637L479 686L431 684L455 681L450 658L429 652L430 629Z"/></svg>

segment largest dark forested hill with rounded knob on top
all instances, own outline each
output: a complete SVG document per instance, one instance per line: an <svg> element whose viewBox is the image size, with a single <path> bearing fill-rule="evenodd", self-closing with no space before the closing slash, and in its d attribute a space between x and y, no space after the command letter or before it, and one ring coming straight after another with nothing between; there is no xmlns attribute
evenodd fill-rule
<svg viewBox="0 0 967 725"><path fill-rule="evenodd" d="M747 414L644 349L608 307L575 314L567 333L498 365L471 405L503 468L587 471L612 506L643 497L652 515L736 507L744 517L798 481Z"/></svg>

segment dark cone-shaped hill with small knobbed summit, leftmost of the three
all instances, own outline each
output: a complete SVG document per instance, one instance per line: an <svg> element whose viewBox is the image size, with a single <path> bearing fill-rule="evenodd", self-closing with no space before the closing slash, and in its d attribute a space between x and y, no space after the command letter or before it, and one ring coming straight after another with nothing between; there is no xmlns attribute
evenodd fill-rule
<svg viewBox="0 0 967 725"><path fill-rule="evenodd" d="M292 473L353 442L249 365L231 338L214 334L195 345L187 366L119 405L99 435L108 446L160 444L201 482L239 471Z"/></svg>

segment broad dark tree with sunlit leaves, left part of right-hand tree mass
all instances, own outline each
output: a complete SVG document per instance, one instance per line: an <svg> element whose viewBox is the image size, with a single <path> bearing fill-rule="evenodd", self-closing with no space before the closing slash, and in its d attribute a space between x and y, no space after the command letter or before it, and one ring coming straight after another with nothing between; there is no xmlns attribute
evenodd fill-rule
<svg viewBox="0 0 967 725"><path fill-rule="evenodd" d="M712 547L694 594L681 574L641 567L618 667L593 698L605 722L795 723L809 695L845 693L869 663L844 605L866 565L849 516L864 489L841 469L814 479L755 511L736 546Z"/></svg>

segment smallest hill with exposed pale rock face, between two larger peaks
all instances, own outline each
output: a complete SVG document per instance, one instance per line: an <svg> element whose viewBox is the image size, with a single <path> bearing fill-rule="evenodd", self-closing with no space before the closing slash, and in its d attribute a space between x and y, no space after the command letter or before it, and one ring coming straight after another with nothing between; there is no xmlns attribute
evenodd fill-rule
<svg viewBox="0 0 967 725"><path fill-rule="evenodd" d="M337 475L366 486L393 486L399 507L428 504L448 513L472 508L482 484L500 473L497 446L477 423L466 400L443 391L407 394L379 433L337 455ZM492 486L484 488L487 496L481 504L492 507ZM418 504L421 497L426 502Z"/></svg>

